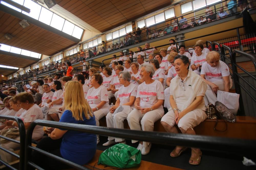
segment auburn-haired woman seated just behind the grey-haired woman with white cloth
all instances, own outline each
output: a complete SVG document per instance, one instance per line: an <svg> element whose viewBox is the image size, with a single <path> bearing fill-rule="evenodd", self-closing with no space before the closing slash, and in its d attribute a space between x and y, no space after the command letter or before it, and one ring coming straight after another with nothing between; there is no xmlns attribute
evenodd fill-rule
<svg viewBox="0 0 256 170"><path fill-rule="evenodd" d="M120 82L119 82L119 73L121 71L124 71L124 67L123 66L120 66L120 65L115 66L115 74L116 75L112 79L112 82L110 82L110 84L113 84L113 85L111 87L111 91L108 91L109 99L111 99L112 97L117 98L117 95L118 95L117 91L122 86L120 84Z"/></svg>

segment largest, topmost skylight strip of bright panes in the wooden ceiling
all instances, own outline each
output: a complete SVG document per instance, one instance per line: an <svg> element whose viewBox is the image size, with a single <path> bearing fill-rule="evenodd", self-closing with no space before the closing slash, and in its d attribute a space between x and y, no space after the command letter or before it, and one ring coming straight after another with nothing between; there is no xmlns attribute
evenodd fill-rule
<svg viewBox="0 0 256 170"><path fill-rule="evenodd" d="M31 18L34 18L40 22L50 25L51 27L56 28L62 32L65 32L73 37L81 39L83 29L81 29L78 26L74 25L73 23L65 20L64 18L54 14L53 12L42 7L41 5L35 3L31 0L25 0L25 1L24 0L12 0L12 1L29 8L30 13L22 11L22 10L6 3L5 1L0 0L0 3L9 8L12 8L16 11L22 12L23 14L25 14Z"/></svg>

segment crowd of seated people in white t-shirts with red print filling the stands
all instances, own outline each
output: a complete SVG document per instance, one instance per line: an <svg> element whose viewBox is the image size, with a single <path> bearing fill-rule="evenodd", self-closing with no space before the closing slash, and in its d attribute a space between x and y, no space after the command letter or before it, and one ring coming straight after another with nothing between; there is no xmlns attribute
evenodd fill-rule
<svg viewBox="0 0 256 170"><path fill-rule="evenodd" d="M9 90L8 95L14 97L4 98L5 108L0 114L19 116L26 128L36 119L61 121L63 112L68 108L64 101L67 98L65 91L72 90L66 89L65 84L73 80L82 87L81 93L95 116L97 126L100 125L99 120L106 116L108 127L122 129L123 121L127 119L132 130L153 131L154 123L161 119L167 132L178 133L177 125L182 133L195 134L193 128L206 119L205 106L209 102L215 103L217 90L229 92L229 68L220 61L219 53L204 48L201 40L196 42L192 56L185 51L184 45L176 46L173 39L170 43L174 44L168 49L160 49L156 55L154 50L157 48L151 48L149 43L145 44L144 49L138 47L137 50L141 52L135 54L137 62L131 62L129 55L119 59L113 56L111 67L101 66L100 74L95 68L90 68L89 77L81 73L73 78L64 76L61 80L58 77L54 80L48 78L48 82L37 80L31 83L31 87L34 86L31 90L37 90L35 96L26 87L25 92L15 95L12 94L13 89ZM118 61L124 61L124 66ZM113 97L116 102L110 106ZM34 104L35 99L38 105ZM168 109L166 114L164 107ZM8 129L10 126L17 127L17 123L7 121L0 127ZM38 126L33 139L38 140L43 134L42 127ZM19 136L16 137L18 139ZM110 136L103 146L118 142L126 143L125 139ZM132 143L135 142L138 142L137 149L142 154L150 152L151 143L132 140ZM1 146L10 151L18 147L10 141L1 143ZM185 149L177 146L170 156L177 157ZM191 149L189 163L197 165L202 153L199 148ZM2 160L10 162L10 154L0 150L0 155Z"/></svg>

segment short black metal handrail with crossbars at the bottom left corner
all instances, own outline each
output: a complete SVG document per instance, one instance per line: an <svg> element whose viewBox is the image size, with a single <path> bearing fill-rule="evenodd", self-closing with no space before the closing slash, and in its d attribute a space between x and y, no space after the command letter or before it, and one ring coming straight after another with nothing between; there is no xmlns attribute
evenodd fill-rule
<svg viewBox="0 0 256 170"><path fill-rule="evenodd" d="M9 153L9 154L19 158L19 170L23 170L24 166L25 166L24 164L25 164L25 137L26 137L26 129L25 129L24 123L23 123L22 119L20 119L17 116L0 115L0 118L1 119L7 119L7 120L14 120L18 124L20 141L14 140L14 139L11 139L11 138L8 138L8 137L4 137L2 135L0 135L0 138L4 138L6 140L9 140L9 141L12 141L12 142L15 142L15 143L19 143L20 144L19 155L15 154L15 153L13 153L13 152L11 152L11 151L3 148L3 147L0 147L0 149L2 149L5 152L7 152L7 153ZM9 165L7 162L3 161L2 159L0 159L0 162L2 164L4 164L6 167L8 167L9 169L17 170L16 168L14 168L13 166Z"/></svg>

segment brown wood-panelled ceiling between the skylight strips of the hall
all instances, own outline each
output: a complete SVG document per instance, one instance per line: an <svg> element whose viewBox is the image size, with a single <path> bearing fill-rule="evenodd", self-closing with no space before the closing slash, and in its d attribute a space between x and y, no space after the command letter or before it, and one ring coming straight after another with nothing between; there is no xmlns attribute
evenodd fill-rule
<svg viewBox="0 0 256 170"><path fill-rule="evenodd" d="M55 0L57 5L50 10L84 30L105 32L131 22L171 4L171 0ZM38 3L39 5L42 5ZM45 6L45 5L42 5ZM30 24L22 28L19 22L26 19ZM80 40L61 31L49 28L33 18L0 4L0 44L52 56L76 45ZM12 39L4 35L9 33ZM1 51L1 50L0 50ZM37 61L31 57L22 58L0 54L0 64L26 68ZM40 60L40 59L39 59ZM3 73L4 72L4 73ZM9 70L0 68L0 74Z"/></svg>

